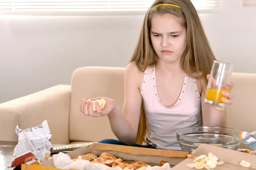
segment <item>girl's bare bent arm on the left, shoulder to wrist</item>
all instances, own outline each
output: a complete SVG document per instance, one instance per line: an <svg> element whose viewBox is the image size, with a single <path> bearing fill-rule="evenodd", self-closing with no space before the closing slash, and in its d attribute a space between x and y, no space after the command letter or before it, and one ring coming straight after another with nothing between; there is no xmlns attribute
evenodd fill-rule
<svg viewBox="0 0 256 170"><path fill-rule="evenodd" d="M117 106L108 114L111 129L119 141L131 145L136 137L140 119L142 96L140 81L143 72L137 69L135 63L129 63L125 69L123 108Z"/></svg>

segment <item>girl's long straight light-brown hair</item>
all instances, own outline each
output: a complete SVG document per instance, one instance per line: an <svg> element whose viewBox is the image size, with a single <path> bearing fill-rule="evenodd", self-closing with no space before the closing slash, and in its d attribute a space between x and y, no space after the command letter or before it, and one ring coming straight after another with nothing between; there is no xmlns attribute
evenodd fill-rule
<svg viewBox="0 0 256 170"><path fill-rule="evenodd" d="M168 5L155 6L158 4L172 4L180 8ZM138 69L144 72L148 66L156 66L158 57L151 43L150 29L151 18L155 14L173 14L180 18L181 26L186 29L186 49L180 58L180 68L189 77L202 79L207 83L207 74L210 73L215 57L209 46L201 20L190 0L155 0L148 9L143 20L134 53L129 61L136 63ZM196 76L194 75L194 73ZM141 107L140 121L135 143L142 144L146 134L146 119L143 104Z"/></svg>

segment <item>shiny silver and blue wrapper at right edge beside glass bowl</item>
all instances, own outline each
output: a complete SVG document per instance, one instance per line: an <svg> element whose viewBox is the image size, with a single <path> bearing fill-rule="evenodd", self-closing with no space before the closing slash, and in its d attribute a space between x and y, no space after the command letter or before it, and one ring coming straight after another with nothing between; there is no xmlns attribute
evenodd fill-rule
<svg viewBox="0 0 256 170"><path fill-rule="evenodd" d="M242 143L245 146L250 147L251 149L251 150L239 149L239 151L256 155L256 131L251 133L240 132L239 138L241 139Z"/></svg>

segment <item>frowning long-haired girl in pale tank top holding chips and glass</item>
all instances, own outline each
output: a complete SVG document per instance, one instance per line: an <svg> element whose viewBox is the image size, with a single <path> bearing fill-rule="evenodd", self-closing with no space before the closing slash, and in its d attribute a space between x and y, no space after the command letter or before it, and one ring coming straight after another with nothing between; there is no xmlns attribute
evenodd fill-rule
<svg viewBox="0 0 256 170"><path fill-rule="evenodd" d="M176 131L192 126L226 126L225 109L204 104L207 78L215 57L190 0L156 0L145 15L136 49L125 70L122 110L110 98L93 112L81 101L81 112L108 115L119 141L102 143L181 150ZM225 104L234 95L223 92ZM96 100L94 98L91 100ZM140 145L144 141L145 145ZM136 143L136 144L134 144Z"/></svg>

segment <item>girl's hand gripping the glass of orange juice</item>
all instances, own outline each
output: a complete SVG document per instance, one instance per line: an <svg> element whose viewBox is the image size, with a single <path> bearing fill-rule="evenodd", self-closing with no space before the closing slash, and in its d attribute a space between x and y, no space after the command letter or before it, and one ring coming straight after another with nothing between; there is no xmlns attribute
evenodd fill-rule
<svg viewBox="0 0 256 170"><path fill-rule="evenodd" d="M209 75L207 75L207 79L209 80ZM234 98L234 94L231 92L231 90L234 88L234 84L232 82L227 83L227 91L222 91L222 94L226 96L226 98L221 98L221 101L223 101L225 104L232 104L232 100ZM224 111L225 110L225 105L224 107L214 107L218 111Z"/></svg>

